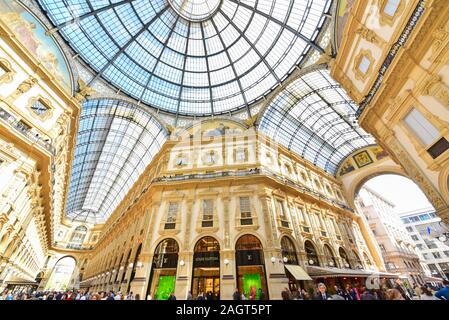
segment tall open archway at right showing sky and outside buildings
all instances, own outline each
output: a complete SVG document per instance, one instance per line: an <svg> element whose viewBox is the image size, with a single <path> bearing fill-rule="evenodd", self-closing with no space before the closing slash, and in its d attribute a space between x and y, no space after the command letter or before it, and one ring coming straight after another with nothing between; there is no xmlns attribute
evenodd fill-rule
<svg viewBox="0 0 449 320"><path fill-rule="evenodd" d="M398 274L404 287L420 283L426 271L415 262L433 255L441 219L419 186L399 174L369 177L359 183L354 204L371 227L386 270ZM363 260L370 268L365 256ZM355 268L357 264L362 262L354 253Z"/></svg>

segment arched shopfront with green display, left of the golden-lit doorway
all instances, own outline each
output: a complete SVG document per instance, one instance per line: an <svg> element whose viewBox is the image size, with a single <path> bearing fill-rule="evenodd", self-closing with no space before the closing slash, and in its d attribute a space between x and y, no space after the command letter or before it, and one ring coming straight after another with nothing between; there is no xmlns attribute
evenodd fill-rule
<svg viewBox="0 0 449 320"><path fill-rule="evenodd" d="M175 291L179 246L174 239L162 240L154 250L147 295L154 300L167 300Z"/></svg>

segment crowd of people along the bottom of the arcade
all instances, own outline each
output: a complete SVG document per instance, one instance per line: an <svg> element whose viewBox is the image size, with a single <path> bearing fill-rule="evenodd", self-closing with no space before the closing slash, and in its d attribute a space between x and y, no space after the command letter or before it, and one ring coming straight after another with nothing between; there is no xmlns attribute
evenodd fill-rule
<svg viewBox="0 0 449 320"><path fill-rule="evenodd" d="M396 280L391 288L381 287L369 289L366 286L352 286L346 284L344 287L334 285L328 290L324 283L319 283L315 292L307 292L305 289L290 291L284 288L281 292L283 300L449 300L449 281L443 282L444 287L438 290L430 286L415 285L413 290L405 288L400 280ZM249 292L240 292L235 289L233 300L266 300L267 296L261 288L256 290L251 288ZM193 297L191 292L187 294L187 300L217 300L212 293L199 293ZM0 300L141 300L139 294L122 294L122 292L84 292L84 291L44 291L36 292L28 290L26 292L15 292L5 290L0 294ZM152 300L151 295L146 300ZM176 300L174 292L170 293L168 300Z"/></svg>

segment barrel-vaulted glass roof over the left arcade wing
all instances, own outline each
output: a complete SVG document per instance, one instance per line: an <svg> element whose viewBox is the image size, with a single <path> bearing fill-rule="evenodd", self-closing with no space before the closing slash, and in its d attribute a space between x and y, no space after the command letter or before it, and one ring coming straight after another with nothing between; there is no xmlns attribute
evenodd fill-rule
<svg viewBox="0 0 449 320"><path fill-rule="evenodd" d="M66 216L104 223L167 140L141 107L119 100L83 104Z"/></svg>

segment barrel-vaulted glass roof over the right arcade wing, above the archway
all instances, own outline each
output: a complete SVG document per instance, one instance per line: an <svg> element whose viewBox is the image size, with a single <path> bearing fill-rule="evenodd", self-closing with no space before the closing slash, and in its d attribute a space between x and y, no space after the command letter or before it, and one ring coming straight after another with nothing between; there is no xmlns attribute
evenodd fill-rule
<svg viewBox="0 0 449 320"><path fill-rule="evenodd" d="M295 80L275 97L259 129L335 175L347 156L375 143L358 126L357 108L327 70L315 70Z"/></svg>

